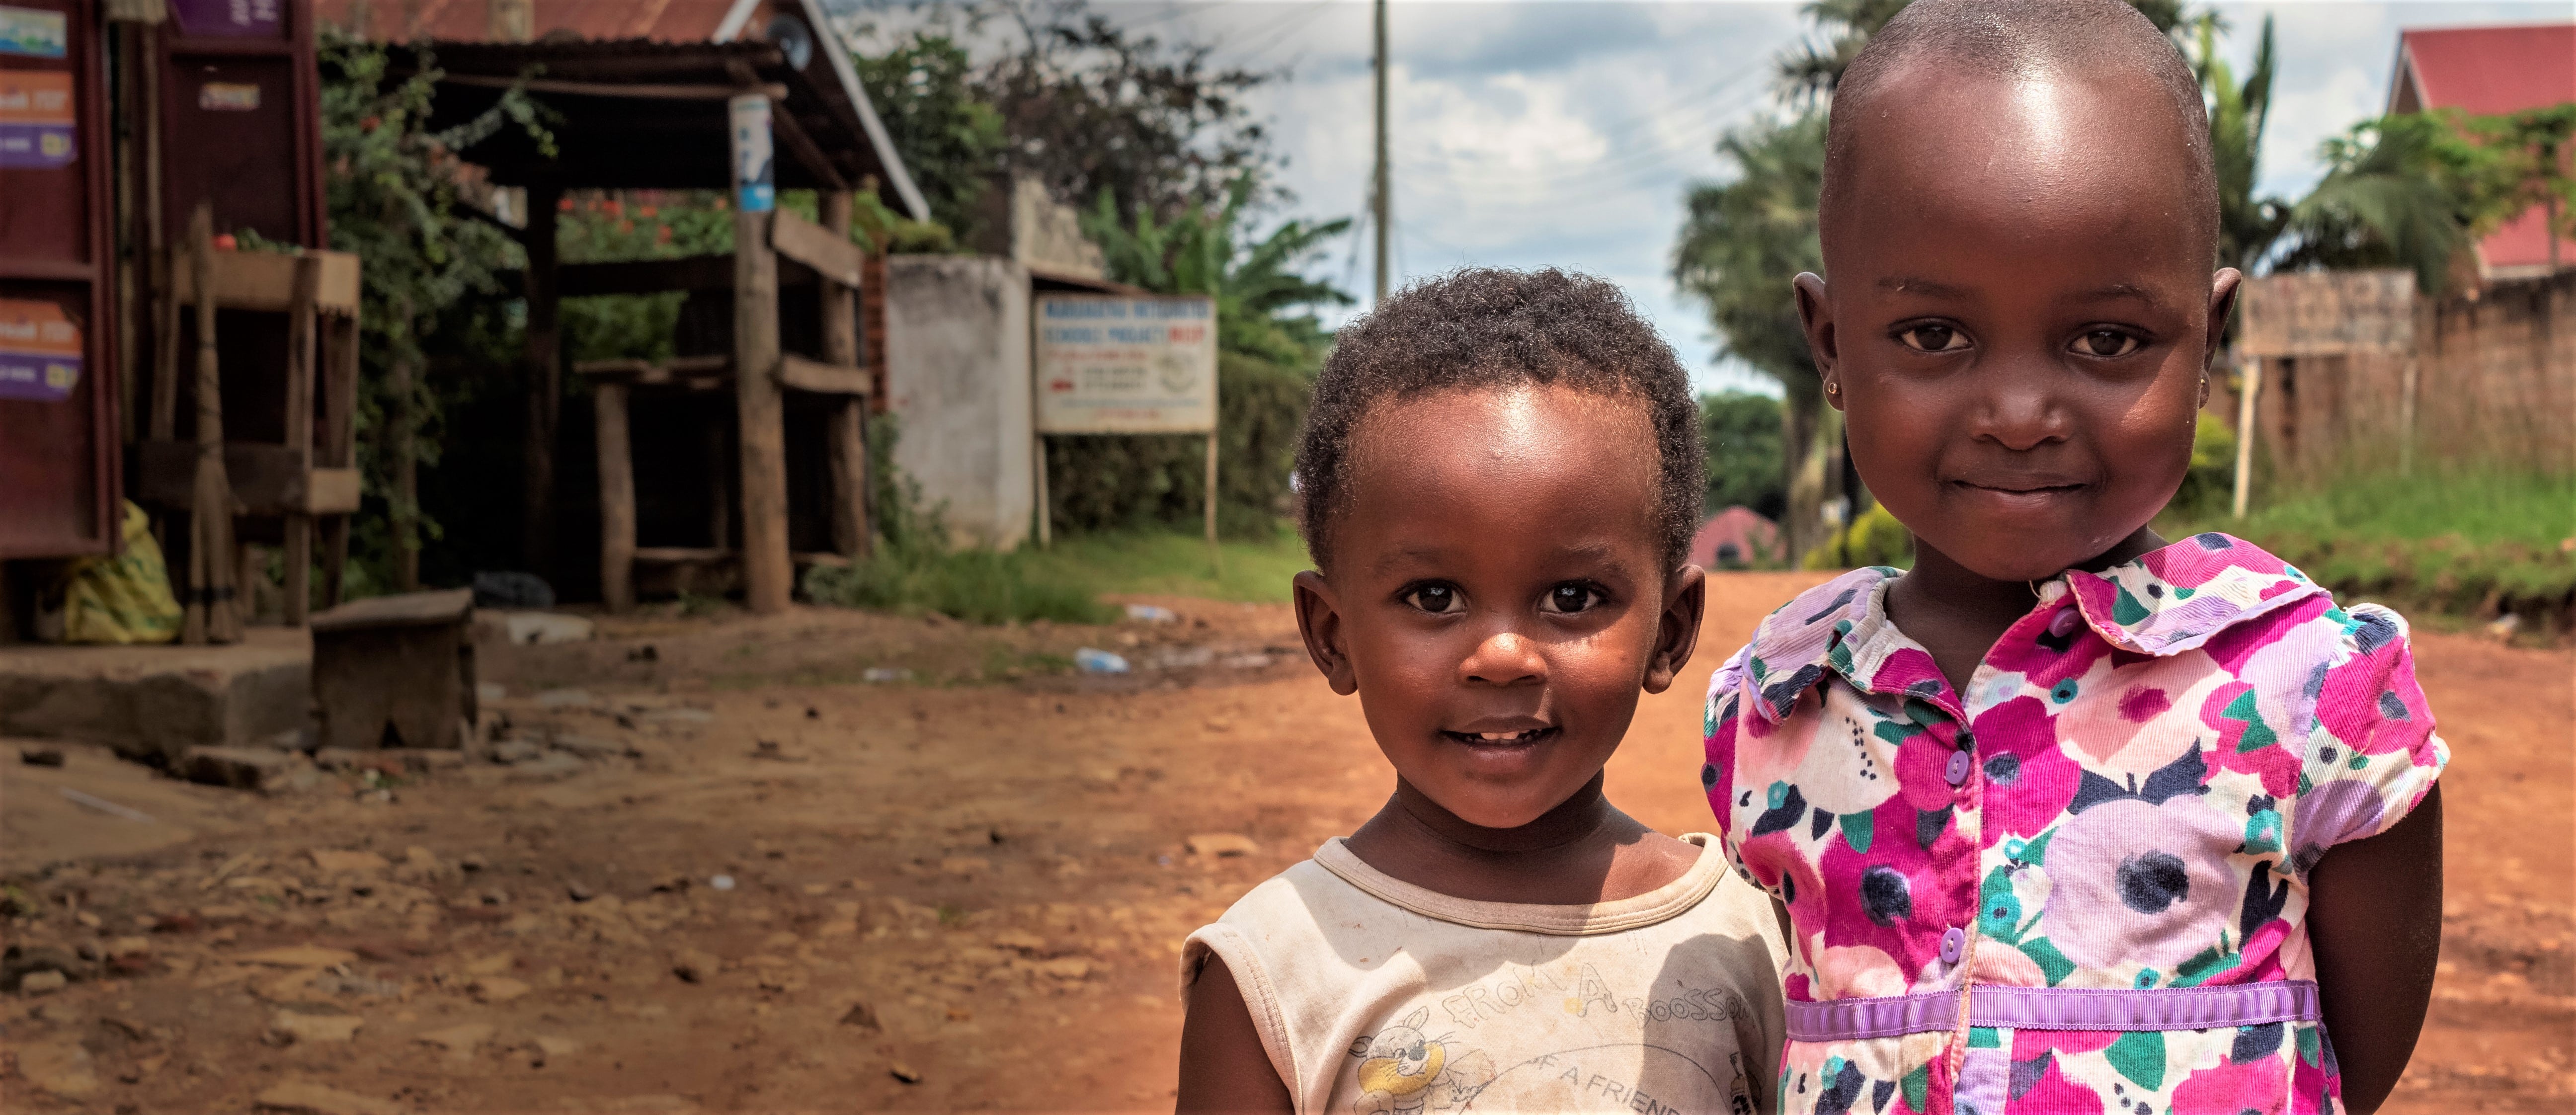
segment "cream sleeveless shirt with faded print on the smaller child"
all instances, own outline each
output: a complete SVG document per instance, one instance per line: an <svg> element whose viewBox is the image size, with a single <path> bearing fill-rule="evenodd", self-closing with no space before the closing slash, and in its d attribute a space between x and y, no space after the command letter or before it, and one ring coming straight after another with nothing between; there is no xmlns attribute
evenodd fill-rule
<svg viewBox="0 0 2576 1115"><path fill-rule="evenodd" d="M1329 839L1190 935L1182 991L1226 960L1298 1112L1767 1112L1772 906L1682 839L1682 878L1595 906L1453 899Z"/></svg>

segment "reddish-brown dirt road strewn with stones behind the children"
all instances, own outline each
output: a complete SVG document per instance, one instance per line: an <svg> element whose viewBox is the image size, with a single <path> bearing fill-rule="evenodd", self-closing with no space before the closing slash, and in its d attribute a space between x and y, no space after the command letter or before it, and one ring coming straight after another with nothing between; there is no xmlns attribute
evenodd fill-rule
<svg viewBox="0 0 2576 1115"><path fill-rule="evenodd" d="M1695 677L1808 582L1721 577ZM255 798L77 747L0 762L0 932L15 968L75 976L0 997L0 1107L1167 1107L1180 937L1391 770L1285 608L1151 603L1182 621L799 610L487 654L507 736L538 744L518 765ZM1046 672L1084 644L1146 670ZM2416 649L2458 754L2450 896L2391 1110L2563 1112L2576 657ZM1610 793L1705 829L1698 762L1692 682L1646 703Z"/></svg>

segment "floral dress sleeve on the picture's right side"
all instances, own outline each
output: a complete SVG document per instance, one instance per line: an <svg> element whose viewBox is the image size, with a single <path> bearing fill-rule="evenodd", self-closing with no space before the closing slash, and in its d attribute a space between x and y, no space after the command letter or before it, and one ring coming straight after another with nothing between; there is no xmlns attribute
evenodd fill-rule
<svg viewBox="0 0 2576 1115"><path fill-rule="evenodd" d="M2352 608L2321 672L2290 819L2293 865L2306 873L2329 847L2388 832L2432 793L2447 762L2406 621L2380 605Z"/></svg>

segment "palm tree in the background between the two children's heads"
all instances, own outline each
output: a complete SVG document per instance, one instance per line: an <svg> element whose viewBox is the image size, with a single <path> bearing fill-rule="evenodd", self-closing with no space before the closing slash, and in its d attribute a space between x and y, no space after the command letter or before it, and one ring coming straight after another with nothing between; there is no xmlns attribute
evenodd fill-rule
<svg viewBox="0 0 2576 1115"><path fill-rule="evenodd" d="M1824 500L1839 479L1839 425L1826 422L1816 363L1790 299L1790 278L1824 270L1816 196L1824 188L1824 113L1739 126L1718 139L1736 178L1690 191L1672 278L1708 306L1723 350L1780 381L1785 399L1788 554L1824 536ZM1826 458L1834 458L1829 466Z"/></svg>

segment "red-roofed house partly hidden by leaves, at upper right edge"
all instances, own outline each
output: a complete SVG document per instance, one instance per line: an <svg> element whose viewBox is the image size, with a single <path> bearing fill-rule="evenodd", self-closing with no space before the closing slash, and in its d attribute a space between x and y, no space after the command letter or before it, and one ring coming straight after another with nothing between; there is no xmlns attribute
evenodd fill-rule
<svg viewBox="0 0 2576 1115"><path fill-rule="evenodd" d="M2391 113L2458 108L2494 116L2568 100L2576 100L2576 23L2398 33ZM2483 281L2548 276L2548 216L2532 206L2481 239L2476 252ZM2558 265L2576 268L2576 239L2558 239Z"/></svg>

